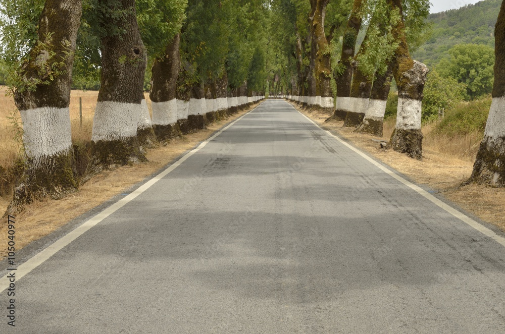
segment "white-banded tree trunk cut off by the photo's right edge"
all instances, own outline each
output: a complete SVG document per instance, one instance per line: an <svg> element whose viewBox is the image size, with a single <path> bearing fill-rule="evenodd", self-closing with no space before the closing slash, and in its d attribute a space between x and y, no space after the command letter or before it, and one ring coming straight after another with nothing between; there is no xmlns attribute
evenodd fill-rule
<svg viewBox="0 0 505 334"><path fill-rule="evenodd" d="M469 182L505 186L505 2L494 27L495 63L491 108Z"/></svg>

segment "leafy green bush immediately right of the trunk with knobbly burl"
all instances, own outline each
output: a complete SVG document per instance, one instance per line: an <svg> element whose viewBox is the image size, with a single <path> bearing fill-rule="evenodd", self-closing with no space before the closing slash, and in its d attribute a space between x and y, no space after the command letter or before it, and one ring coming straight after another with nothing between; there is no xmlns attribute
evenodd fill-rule
<svg viewBox="0 0 505 334"><path fill-rule="evenodd" d="M451 77L443 78L438 72L431 71L424 87L423 121L437 119L439 109L451 109L464 99L465 94L465 84Z"/></svg>

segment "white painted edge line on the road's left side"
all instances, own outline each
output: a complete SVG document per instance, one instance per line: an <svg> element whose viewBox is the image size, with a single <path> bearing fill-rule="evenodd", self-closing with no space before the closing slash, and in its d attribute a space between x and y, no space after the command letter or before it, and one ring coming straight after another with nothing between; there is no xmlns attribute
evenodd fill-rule
<svg viewBox="0 0 505 334"><path fill-rule="evenodd" d="M261 105L261 104L260 104ZM122 208L124 205L128 204L131 202L135 197L149 189L152 185L160 181L162 178L164 178L167 174L175 170L181 163L186 161L191 155L199 151L200 149L204 148L205 145L207 145L211 140L219 136L221 133L223 133L225 130L229 129L232 125L240 121L243 117L248 115L249 113L254 112L256 108L258 108L260 105L256 106L254 109L250 110L246 114L240 116L237 118L235 121L232 123L228 124L225 128L219 130L217 133L215 133L212 137L208 138L207 140L203 141L198 145L196 148L192 149L188 153L186 153L184 156L182 156L179 160L175 161L173 164L168 166L167 169L165 169L163 172L155 176L154 178L150 179L143 185L141 185L138 189L135 191L131 192L129 195L123 197L119 201L115 202L111 206L107 207L103 211L99 212L97 215L92 217L91 219L87 220L84 222L84 224L78 226L76 229L72 230L62 238L58 239L55 241L53 244L47 246L47 248L41 250L37 254L35 254L33 257L28 259L26 262L20 264L16 270L15 270L15 276L16 276L16 282L19 281L24 275L38 267L40 264L42 264L44 261L46 261L48 258L59 252L61 249L63 249L65 246L73 242L75 239L79 238L81 235L83 235L86 231L91 229L93 226L98 224L100 221L104 220L120 208ZM9 279L8 275L6 274L5 276L0 279L0 293L2 293L4 290L9 288Z"/></svg>

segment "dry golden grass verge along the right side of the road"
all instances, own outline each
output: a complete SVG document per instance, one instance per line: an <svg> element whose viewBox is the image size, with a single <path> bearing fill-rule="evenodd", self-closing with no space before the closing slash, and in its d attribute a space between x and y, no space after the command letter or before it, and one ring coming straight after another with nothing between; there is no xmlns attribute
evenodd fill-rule
<svg viewBox="0 0 505 334"><path fill-rule="evenodd" d="M343 128L343 122L334 120L325 122L327 114L317 111L308 113L298 107L297 109L322 127L350 140L357 147L408 176L414 182L427 185L464 210L505 231L503 216L505 189L477 185L461 186L472 174L473 162L482 140L481 134L440 136L432 131L433 125L427 125L423 127L423 160L418 161L405 154L382 149L373 141L373 139L389 140L394 129L394 119L384 122L384 136L376 138L356 133L354 128Z"/></svg>

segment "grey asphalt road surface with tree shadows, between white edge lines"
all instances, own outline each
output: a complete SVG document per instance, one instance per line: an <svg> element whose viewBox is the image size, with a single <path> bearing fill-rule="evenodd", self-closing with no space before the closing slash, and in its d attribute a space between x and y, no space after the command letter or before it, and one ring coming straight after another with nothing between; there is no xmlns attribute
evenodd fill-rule
<svg viewBox="0 0 505 334"><path fill-rule="evenodd" d="M504 259L267 100L17 281L0 332L503 333Z"/></svg>

